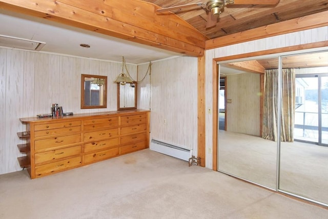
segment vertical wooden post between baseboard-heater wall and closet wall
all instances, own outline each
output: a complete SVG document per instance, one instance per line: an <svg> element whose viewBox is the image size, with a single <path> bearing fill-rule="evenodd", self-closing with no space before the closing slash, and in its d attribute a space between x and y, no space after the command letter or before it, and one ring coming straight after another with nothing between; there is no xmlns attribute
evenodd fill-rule
<svg viewBox="0 0 328 219"><path fill-rule="evenodd" d="M205 115L205 56L198 57L197 76L197 157L200 157L200 166L205 167L206 161L206 115Z"/></svg>

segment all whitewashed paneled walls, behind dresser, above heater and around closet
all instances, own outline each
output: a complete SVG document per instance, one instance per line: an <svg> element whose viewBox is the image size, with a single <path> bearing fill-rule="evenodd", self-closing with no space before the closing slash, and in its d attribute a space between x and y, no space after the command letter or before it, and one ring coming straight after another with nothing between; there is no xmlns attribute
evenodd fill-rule
<svg viewBox="0 0 328 219"><path fill-rule="evenodd" d="M273 36L206 51L206 167L212 169L213 58L328 41L328 27ZM138 78L148 63L139 66ZM133 78L136 66L128 65ZM16 132L25 130L19 117L50 111L52 103L64 111L116 110L116 85L111 83L121 63L19 50L0 49L0 174L20 170ZM108 107L80 109L80 74L108 76ZM217 73L215 73L217 74ZM151 82L150 82L151 79ZM176 57L153 62L151 76L138 84L138 108L151 109L151 138L194 149L197 155L197 58Z"/></svg>

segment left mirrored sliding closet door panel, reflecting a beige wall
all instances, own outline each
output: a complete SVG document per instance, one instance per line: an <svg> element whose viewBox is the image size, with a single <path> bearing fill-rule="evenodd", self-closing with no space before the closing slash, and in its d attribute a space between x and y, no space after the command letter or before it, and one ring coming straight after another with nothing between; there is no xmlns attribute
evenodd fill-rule
<svg viewBox="0 0 328 219"><path fill-rule="evenodd" d="M219 65L218 170L276 189L277 141L261 134L263 116L268 116L262 113L264 73L273 68L278 68L277 57Z"/></svg>

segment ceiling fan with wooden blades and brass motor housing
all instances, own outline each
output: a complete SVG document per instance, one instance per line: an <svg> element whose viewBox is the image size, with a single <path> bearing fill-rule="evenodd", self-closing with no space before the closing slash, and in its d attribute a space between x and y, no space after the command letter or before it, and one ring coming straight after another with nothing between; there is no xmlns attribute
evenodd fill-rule
<svg viewBox="0 0 328 219"><path fill-rule="evenodd" d="M228 4L233 5L276 5L279 0L210 0L207 3L199 2L199 3L191 3L186 5L173 6L168 8L157 9L157 12L165 12L172 11L182 8L189 7L203 7L208 12L208 19L206 28L210 28L216 25L217 17L222 12L223 8Z"/></svg>

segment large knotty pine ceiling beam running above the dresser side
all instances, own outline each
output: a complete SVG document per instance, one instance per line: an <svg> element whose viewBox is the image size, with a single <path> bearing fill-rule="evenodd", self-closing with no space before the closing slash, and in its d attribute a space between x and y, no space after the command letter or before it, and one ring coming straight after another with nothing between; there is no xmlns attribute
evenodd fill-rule
<svg viewBox="0 0 328 219"><path fill-rule="evenodd" d="M177 15L157 14L158 6L139 0L0 0L0 8L195 57L208 39Z"/></svg>

